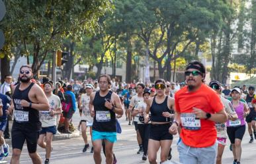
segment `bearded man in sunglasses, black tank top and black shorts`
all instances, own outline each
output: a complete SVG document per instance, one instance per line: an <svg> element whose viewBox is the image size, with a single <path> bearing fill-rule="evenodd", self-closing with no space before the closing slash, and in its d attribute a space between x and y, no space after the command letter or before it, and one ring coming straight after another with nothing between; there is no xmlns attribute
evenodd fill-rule
<svg viewBox="0 0 256 164"><path fill-rule="evenodd" d="M48 99L40 86L32 83L32 69L25 65L20 68L19 79L21 84L12 88L13 103L9 108L13 112L14 121L11 132L13 155L11 164L18 164L23 144L26 140L28 153L33 164L41 164L42 159L36 153L37 140L41 130L39 111L50 108Z"/></svg>

